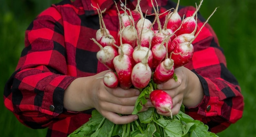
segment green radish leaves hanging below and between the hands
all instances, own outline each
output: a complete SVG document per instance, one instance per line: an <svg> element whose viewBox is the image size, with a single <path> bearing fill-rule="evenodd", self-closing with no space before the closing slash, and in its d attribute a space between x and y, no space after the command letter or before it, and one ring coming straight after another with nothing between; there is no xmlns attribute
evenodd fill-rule
<svg viewBox="0 0 256 137"><path fill-rule="evenodd" d="M159 115L155 108L139 112L153 89L156 84L152 81L142 89L132 112L139 117L136 121L116 125L93 110L92 118L68 137L218 137L207 125L186 115L184 105L173 118Z"/></svg>

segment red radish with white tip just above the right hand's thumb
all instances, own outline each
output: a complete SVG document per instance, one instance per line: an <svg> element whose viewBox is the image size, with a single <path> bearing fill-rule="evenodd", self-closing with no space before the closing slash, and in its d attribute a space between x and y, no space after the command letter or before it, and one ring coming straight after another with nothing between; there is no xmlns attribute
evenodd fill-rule
<svg viewBox="0 0 256 137"><path fill-rule="evenodd" d="M161 62L153 74L153 81L162 84L170 80L174 75L174 63L172 59L166 58Z"/></svg>

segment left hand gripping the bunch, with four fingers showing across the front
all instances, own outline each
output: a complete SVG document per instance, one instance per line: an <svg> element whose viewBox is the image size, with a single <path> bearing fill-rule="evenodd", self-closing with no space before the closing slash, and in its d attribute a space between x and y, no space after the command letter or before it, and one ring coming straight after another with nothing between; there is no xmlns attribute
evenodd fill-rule
<svg viewBox="0 0 256 137"><path fill-rule="evenodd" d="M130 114L133 111L139 91L137 89L124 90L120 87L107 88L103 84L102 78L99 78L106 72L103 71L91 77L81 77L74 80L65 91L64 99L69 96L68 92L72 95L71 98L67 98L68 100L64 100L64 102L70 102L64 105L65 108L70 111L96 108L103 117L115 124L127 124L136 120L138 116ZM145 107L141 111L146 109ZM125 116L118 114L125 114Z"/></svg>

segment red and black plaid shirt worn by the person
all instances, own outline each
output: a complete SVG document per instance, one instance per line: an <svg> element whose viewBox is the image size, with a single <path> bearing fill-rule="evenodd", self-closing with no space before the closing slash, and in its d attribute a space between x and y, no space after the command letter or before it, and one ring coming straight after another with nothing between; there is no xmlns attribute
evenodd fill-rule
<svg viewBox="0 0 256 137"><path fill-rule="evenodd" d="M176 7L170 0L157 2L161 13ZM91 3L107 9L103 20L110 34L116 37L119 20L113 0L63 0L40 13L29 25L16 71L5 86L5 106L26 126L49 127L47 136L66 137L88 121L90 110L83 113L65 110L65 89L76 77L106 70L96 58L99 47L90 40L99 29L99 17ZM128 0L127 4L134 9L137 0ZM121 11L119 0L117 5ZM148 9L147 14L152 13L148 0L142 0L140 5L144 13ZM194 7L179 7L181 16L190 16L194 11ZM198 19L198 25L202 26L204 18L198 15ZM186 67L198 75L205 95L198 106L186 108L186 113L218 133L242 117L243 96L236 78L226 67L225 56L209 24L193 45L195 52Z"/></svg>

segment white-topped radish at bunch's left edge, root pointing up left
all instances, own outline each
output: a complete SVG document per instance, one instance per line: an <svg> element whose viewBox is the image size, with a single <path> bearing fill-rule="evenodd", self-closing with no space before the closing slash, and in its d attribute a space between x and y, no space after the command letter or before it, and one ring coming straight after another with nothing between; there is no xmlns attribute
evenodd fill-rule
<svg viewBox="0 0 256 137"><path fill-rule="evenodd" d="M118 55L117 51L112 46L101 46L101 44L99 44L94 38L91 40L93 40L101 49L97 52L97 59L99 62L104 64L108 69L115 71L113 60L114 57Z"/></svg>

